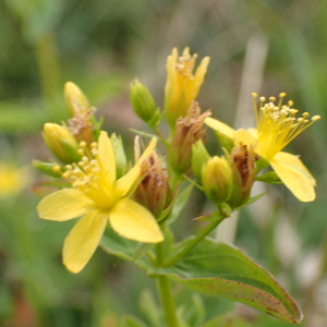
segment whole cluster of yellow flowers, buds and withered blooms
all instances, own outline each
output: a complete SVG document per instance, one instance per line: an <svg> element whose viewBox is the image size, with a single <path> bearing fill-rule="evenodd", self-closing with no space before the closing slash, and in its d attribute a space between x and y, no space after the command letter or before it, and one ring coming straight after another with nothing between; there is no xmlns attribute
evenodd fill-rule
<svg viewBox="0 0 327 327"><path fill-rule="evenodd" d="M130 99L135 113L158 135L152 137L141 155L140 136L135 138L135 165L131 168L121 136L100 130L96 109L72 82L64 87L70 112L68 123L46 123L44 138L56 160L35 161L34 166L62 183L61 190L44 197L37 210L47 220L64 221L82 217L63 244L63 263L78 272L97 249L106 228L119 235L143 243L164 240L164 225L173 208L179 186L196 184L223 215L251 203L251 189L263 167L271 166L278 178L303 202L315 198L315 179L299 157L282 152L296 135L319 119L308 113L296 118L293 102L283 105L280 94L259 106L254 97L257 129L234 131L201 113L195 101L204 82L209 58L202 60L193 75L197 56L185 48L181 57L174 48L167 59L165 112L170 128L165 137L158 126L164 117L149 90L135 80ZM205 147L204 124L215 130L219 140L232 144L225 156L210 156ZM156 145L166 146L166 156ZM197 182L199 184L197 184ZM58 183L56 184L58 185ZM220 215L219 214L219 215ZM164 219L165 218L165 219Z"/></svg>

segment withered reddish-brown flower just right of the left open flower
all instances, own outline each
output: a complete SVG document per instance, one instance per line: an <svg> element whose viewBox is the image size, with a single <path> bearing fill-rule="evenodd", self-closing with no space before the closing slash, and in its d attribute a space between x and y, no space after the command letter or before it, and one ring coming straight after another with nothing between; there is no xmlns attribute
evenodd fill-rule
<svg viewBox="0 0 327 327"><path fill-rule="evenodd" d="M138 140L136 140L136 142L138 142ZM140 145L135 144L135 161L137 161L140 157ZM156 218L159 218L166 206L168 183L158 152L154 150L150 157L142 162L141 175L144 178L134 192L134 198L146 207Z"/></svg>

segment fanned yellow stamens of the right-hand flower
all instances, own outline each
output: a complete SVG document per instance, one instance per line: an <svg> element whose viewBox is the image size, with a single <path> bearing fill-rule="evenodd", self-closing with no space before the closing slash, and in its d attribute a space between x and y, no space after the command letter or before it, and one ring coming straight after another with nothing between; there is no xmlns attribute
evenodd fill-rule
<svg viewBox="0 0 327 327"><path fill-rule="evenodd" d="M292 100L288 105L282 105L286 93L279 95L278 105L275 104L275 97L270 97L269 102L266 104L266 98L261 97L259 109L255 100L257 95L254 93L252 96L254 99L257 140L265 152L266 159L272 159L294 137L320 119L320 116L314 116L310 120L308 112L304 112L301 118L296 118L299 110L291 108L293 106Z"/></svg>

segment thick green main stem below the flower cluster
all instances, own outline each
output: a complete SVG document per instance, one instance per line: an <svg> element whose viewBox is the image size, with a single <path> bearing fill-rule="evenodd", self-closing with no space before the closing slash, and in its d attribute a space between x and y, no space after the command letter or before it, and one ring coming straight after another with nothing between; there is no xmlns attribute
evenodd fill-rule
<svg viewBox="0 0 327 327"><path fill-rule="evenodd" d="M162 266L165 261L165 252L162 242L156 245L157 252L157 265L158 267ZM166 314L166 326L178 327L178 318L175 314L175 307L172 300L170 280L167 276L157 277L157 289L160 295L160 301Z"/></svg>

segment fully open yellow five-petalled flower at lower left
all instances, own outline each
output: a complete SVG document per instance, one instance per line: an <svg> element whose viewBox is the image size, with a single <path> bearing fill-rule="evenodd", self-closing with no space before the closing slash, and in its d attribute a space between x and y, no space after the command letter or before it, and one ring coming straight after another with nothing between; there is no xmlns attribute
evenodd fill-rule
<svg viewBox="0 0 327 327"><path fill-rule="evenodd" d="M116 158L111 140L101 132L99 143L92 150L82 142L82 161L66 166L62 174L73 189L46 196L37 210L39 217L65 221L84 216L66 237L63 244L63 264L72 272L81 271L97 249L108 219L120 235L138 242L158 243L164 240L154 216L129 198L141 181L142 162L154 150L154 137L135 166L116 180ZM59 168L59 167L58 167Z"/></svg>

